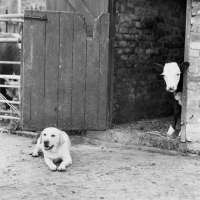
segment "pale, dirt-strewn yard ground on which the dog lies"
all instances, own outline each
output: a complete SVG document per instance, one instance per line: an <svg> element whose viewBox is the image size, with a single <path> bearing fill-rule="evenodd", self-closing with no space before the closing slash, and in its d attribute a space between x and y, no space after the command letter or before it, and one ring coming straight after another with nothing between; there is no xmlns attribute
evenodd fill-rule
<svg viewBox="0 0 200 200"><path fill-rule="evenodd" d="M33 139L0 132L0 199L200 199L200 158L71 136L73 164L51 172Z"/></svg>

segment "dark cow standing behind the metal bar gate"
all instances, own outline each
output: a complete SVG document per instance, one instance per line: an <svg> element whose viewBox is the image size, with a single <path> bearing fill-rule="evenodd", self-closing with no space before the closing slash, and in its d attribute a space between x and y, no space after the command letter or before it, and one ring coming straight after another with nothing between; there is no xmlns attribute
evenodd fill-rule
<svg viewBox="0 0 200 200"><path fill-rule="evenodd" d="M21 36L17 33L0 33L0 38L19 38ZM0 61L20 61L21 46L18 43L0 43ZM20 65L0 64L1 75L20 75ZM0 78L0 84L5 84L6 80ZM9 84L9 83L8 83ZM12 90L12 92L11 92ZM10 93L11 92L11 93ZM19 93L19 89L0 88L6 99L13 100L13 97Z"/></svg>

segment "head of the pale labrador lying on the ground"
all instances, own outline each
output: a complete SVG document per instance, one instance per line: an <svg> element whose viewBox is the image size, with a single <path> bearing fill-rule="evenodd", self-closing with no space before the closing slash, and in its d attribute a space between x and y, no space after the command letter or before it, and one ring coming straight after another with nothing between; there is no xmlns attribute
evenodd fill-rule
<svg viewBox="0 0 200 200"><path fill-rule="evenodd" d="M42 143L46 151L57 148L64 142L62 131L54 127L45 128L40 135L40 143Z"/></svg>

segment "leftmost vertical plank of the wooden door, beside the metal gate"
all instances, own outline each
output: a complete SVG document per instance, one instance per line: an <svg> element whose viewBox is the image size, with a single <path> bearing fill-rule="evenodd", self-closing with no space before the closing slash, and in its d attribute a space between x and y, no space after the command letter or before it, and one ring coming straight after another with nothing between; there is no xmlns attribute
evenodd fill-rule
<svg viewBox="0 0 200 200"><path fill-rule="evenodd" d="M25 15L30 15L30 10L25 10ZM30 75L32 71L32 21L24 21L23 29L23 44L22 44L22 70L21 70L21 126L23 130L30 129L31 117L30 117L30 107L31 107L31 81Z"/></svg>

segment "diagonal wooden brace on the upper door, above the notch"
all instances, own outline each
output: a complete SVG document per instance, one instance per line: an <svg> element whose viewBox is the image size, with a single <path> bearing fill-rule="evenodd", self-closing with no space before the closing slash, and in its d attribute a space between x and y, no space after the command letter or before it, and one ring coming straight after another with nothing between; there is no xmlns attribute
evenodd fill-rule
<svg viewBox="0 0 200 200"><path fill-rule="evenodd" d="M76 11L80 12L85 17L87 25L94 24L94 16L85 6L82 0L68 0L68 1Z"/></svg>

